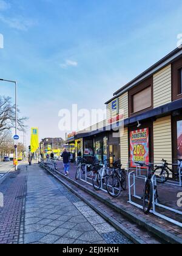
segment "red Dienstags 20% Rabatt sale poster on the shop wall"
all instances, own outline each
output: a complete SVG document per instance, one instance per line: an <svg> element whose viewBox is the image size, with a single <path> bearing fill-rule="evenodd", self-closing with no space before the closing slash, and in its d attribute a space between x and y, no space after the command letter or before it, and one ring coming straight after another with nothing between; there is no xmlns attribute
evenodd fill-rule
<svg viewBox="0 0 182 256"><path fill-rule="evenodd" d="M130 162L149 163L149 128L130 132Z"/></svg>

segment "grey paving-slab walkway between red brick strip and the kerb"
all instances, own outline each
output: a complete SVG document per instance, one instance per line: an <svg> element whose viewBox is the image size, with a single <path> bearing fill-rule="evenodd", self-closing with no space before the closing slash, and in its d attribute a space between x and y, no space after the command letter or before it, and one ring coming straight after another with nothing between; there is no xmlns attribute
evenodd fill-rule
<svg viewBox="0 0 182 256"><path fill-rule="evenodd" d="M19 243L132 243L38 165L28 167L24 217Z"/></svg>

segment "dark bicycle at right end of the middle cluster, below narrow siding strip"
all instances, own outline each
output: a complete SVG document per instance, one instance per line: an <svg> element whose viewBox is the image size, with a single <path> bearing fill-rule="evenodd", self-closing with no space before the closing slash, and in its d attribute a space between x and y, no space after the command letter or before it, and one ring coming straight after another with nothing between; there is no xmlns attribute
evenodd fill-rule
<svg viewBox="0 0 182 256"><path fill-rule="evenodd" d="M126 171L121 169L122 165L118 162L113 164L112 174L107 177L106 188L107 192L112 197L118 197L121 190L126 190Z"/></svg>

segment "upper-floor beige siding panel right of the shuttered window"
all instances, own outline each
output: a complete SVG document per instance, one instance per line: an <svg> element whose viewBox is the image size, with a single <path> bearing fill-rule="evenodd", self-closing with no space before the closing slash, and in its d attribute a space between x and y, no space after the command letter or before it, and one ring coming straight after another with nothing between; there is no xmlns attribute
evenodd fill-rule
<svg viewBox="0 0 182 256"><path fill-rule="evenodd" d="M172 101L171 65L153 75L153 107Z"/></svg>

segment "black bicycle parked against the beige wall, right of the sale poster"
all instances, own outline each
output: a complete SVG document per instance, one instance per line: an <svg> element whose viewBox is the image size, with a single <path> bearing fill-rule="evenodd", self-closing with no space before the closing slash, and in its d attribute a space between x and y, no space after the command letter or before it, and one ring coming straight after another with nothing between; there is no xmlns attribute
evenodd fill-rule
<svg viewBox="0 0 182 256"><path fill-rule="evenodd" d="M169 179L169 174L170 172L172 172L172 176L174 177L175 180L178 181L178 179L180 178L180 176L182 176L182 159L178 160L180 162L180 165L178 164L172 164L172 163L167 163L166 160L162 160L163 165L162 166L157 166L157 168L155 169L155 172L157 170L161 170L160 171L160 179L157 179L158 183L165 183L167 182L167 180ZM177 166L178 167L178 172L174 172L172 169L169 168L170 166Z"/></svg>

